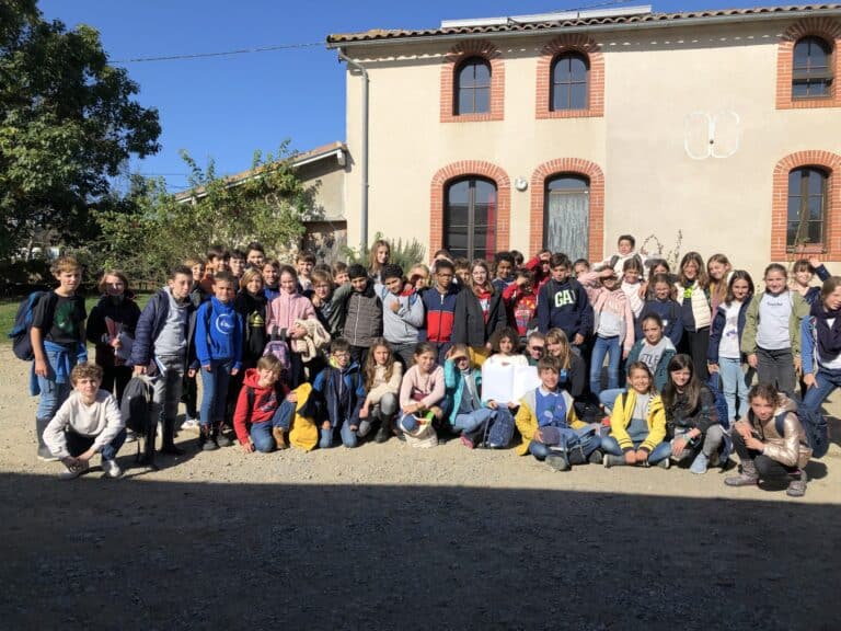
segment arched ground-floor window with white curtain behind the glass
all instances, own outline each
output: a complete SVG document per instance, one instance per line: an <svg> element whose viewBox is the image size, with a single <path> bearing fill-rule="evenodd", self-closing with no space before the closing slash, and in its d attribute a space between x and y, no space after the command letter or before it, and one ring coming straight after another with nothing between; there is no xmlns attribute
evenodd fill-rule
<svg viewBox="0 0 841 631"><path fill-rule="evenodd" d="M548 179L543 204L543 248L569 259L587 259L590 233L590 181L577 173Z"/></svg>

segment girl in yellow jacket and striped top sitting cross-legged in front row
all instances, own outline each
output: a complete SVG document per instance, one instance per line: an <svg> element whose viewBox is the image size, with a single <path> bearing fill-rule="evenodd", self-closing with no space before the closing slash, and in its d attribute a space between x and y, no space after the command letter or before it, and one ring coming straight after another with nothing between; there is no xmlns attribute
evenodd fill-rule
<svg viewBox="0 0 841 631"><path fill-rule="evenodd" d="M604 467L656 464L669 468L671 445L666 439L666 413L654 390L648 366L627 366L627 393L617 395L610 416L610 436L601 439Z"/></svg>

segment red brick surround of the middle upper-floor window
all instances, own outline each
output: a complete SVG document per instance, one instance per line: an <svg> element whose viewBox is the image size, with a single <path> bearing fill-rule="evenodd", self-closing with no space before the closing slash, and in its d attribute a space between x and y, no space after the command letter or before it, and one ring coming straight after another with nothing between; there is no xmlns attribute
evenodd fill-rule
<svg viewBox="0 0 841 631"><path fill-rule="evenodd" d="M586 59L587 104L580 108L552 107L552 74L555 61L567 54ZM604 115L604 56L595 39L583 34L557 37L546 44L538 58L537 118L590 118Z"/></svg>

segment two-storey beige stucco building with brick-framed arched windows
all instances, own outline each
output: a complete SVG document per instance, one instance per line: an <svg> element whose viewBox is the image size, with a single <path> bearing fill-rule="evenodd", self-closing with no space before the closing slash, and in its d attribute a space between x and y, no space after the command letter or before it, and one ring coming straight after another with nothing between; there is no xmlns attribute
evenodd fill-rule
<svg viewBox="0 0 841 631"><path fill-rule="evenodd" d="M364 68L369 240L600 260L621 233L666 254L680 231L681 253L751 271L841 262L841 4L625 12L330 36L349 58L348 242Z"/></svg>

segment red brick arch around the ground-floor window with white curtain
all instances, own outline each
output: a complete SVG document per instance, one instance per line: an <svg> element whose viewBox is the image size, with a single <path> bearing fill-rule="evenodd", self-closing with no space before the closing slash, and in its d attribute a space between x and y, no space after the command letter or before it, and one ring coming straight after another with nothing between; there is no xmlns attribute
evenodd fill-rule
<svg viewBox="0 0 841 631"><path fill-rule="evenodd" d="M546 180L562 173L584 175L590 181L590 227L587 255L590 261L601 261L604 257L604 174L598 164L580 158L550 160L538 167L532 173L529 255L543 249L543 204Z"/></svg>

